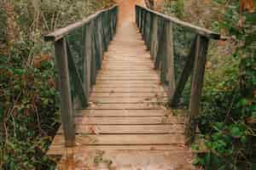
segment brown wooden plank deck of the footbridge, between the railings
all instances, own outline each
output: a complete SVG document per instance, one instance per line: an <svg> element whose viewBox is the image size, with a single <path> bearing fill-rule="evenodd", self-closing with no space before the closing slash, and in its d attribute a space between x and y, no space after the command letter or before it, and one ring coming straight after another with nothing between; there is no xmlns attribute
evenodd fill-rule
<svg viewBox="0 0 256 170"><path fill-rule="evenodd" d="M90 96L76 111L76 147L59 129L48 154L58 169L194 169L184 120L166 109L166 92L133 22L118 28ZM101 150L101 151L100 151Z"/></svg>

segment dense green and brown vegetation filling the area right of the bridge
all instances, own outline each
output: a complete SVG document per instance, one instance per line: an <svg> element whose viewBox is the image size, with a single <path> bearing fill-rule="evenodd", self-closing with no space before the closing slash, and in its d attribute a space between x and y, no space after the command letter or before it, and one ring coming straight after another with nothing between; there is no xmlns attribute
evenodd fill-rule
<svg viewBox="0 0 256 170"><path fill-rule="evenodd" d="M207 151L195 159L206 169L256 168L256 14L253 6L241 7L245 2L172 2L164 8L228 37L226 42L212 42L206 65L198 117L204 140L194 146Z"/></svg>

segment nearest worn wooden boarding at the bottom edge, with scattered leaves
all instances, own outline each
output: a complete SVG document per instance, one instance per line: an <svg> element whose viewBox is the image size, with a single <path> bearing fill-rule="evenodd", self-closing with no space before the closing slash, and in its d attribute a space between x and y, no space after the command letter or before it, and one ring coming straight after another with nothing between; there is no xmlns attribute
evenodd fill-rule
<svg viewBox="0 0 256 170"><path fill-rule="evenodd" d="M78 169L88 167L88 169L170 170L170 167L174 167L174 169L195 170L196 167L191 164L193 161L193 154L189 150L179 151L178 148L179 147L177 147L177 150L166 151L154 150L154 147L152 147L152 150L105 150L102 159L111 160L113 163L109 165L108 163L102 162L100 164L101 166L95 166L95 164L92 163L97 156L96 151L81 150L81 152L84 151L84 154L81 156L73 156L73 154L71 156L68 154L64 156L61 160L61 166L58 167L58 169L67 169L67 167L68 169L72 169L73 165L76 165L76 168ZM67 153L73 153L73 150L69 150Z"/></svg>

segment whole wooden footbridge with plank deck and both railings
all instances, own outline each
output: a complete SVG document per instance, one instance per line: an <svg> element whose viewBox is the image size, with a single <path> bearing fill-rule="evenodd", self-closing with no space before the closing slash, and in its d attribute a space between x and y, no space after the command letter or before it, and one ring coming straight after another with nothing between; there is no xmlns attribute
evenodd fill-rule
<svg viewBox="0 0 256 170"><path fill-rule="evenodd" d="M194 169L186 144L195 139L208 42L220 37L141 6L136 23L117 26L118 11L45 37L55 42L62 120L48 154L62 156L59 169ZM189 110L175 116L168 108L183 103L188 84Z"/></svg>

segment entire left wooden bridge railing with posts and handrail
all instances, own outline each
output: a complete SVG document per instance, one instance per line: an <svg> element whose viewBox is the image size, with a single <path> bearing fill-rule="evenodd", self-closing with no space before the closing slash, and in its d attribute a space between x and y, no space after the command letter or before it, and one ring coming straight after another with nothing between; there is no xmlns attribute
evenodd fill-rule
<svg viewBox="0 0 256 170"><path fill-rule="evenodd" d="M102 67L103 53L116 30L117 14L118 6L113 6L44 37L55 45L61 121L67 146L73 146L75 140L73 108L88 106L96 73Z"/></svg>

